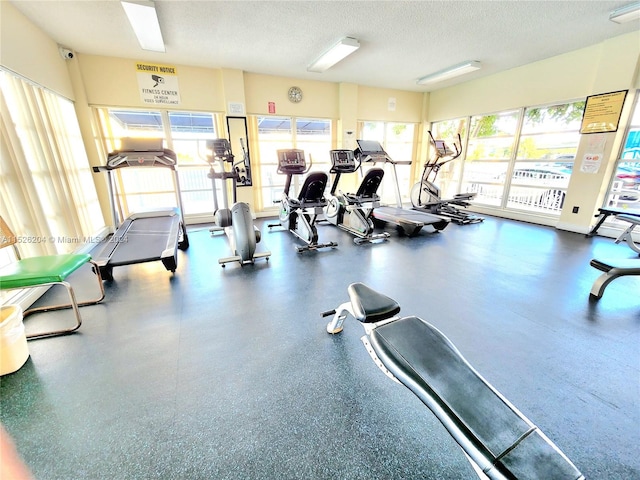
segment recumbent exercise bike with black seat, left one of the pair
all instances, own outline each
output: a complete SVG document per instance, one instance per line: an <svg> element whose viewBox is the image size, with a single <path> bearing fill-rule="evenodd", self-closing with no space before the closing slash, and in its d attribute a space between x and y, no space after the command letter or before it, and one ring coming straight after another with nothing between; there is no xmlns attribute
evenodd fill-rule
<svg viewBox="0 0 640 480"><path fill-rule="evenodd" d="M325 247L337 247L336 242L318 243L316 221L318 215L327 206L324 190L329 177L324 172L313 172L307 175L300 189L298 198L289 196L291 180L294 175L303 175L311 168L311 161L306 165L304 151L297 149L278 150L278 173L287 176L280 200L280 223L269 225L283 227L302 240L305 245L296 245L298 253L306 250L317 250Z"/></svg>

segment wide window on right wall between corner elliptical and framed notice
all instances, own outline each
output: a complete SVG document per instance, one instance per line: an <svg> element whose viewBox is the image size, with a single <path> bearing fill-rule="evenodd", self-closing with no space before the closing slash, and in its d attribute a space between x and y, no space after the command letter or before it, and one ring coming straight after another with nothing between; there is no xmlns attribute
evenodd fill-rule
<svg viewBox="0 0 640 480"><path fill-rule="evenodd" d="M584 102L471 117L461 191L474 203L559 215Z"/></svg>

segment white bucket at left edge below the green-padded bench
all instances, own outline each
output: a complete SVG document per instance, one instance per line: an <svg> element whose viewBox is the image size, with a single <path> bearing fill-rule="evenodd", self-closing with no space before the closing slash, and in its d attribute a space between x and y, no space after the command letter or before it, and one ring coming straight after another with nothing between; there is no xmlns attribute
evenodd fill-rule
<svg viewBox="0 0 640 480"><path fill-rule="evenodd" d="M0 307L0 375L19 370L28 358L22 310L17 305Z"/></svg>

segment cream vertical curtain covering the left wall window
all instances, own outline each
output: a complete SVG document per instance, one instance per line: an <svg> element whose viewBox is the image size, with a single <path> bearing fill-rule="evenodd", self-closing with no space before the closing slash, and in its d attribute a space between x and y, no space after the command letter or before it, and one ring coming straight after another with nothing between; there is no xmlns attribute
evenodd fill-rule
<svg viewBox="0 0 640 480"><path fill-rule="evenodd" d="M0 215L23 256L78 250L104 218L73 103L0 70Z"/></svg>

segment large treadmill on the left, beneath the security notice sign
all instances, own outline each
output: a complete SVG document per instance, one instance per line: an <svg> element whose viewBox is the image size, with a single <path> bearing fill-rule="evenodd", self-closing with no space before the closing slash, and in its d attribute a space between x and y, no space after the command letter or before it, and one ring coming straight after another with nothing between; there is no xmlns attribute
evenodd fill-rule
<svg viewBox="0 0 640 480"><path fill-rule="evenodd" d="M189 239L184 223L175 152L162 148L162 139L123 138L122 149L110 153L107 164L93 167L108 176L111 213L116 231L91 253L104 280L113 280L113 267L160 260L172 273L178 266L178 249ZM177 207L134 213L122 219L114 171L120 168L166 168L173 174Z"/></svg>

